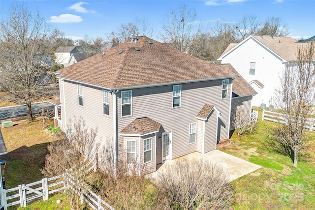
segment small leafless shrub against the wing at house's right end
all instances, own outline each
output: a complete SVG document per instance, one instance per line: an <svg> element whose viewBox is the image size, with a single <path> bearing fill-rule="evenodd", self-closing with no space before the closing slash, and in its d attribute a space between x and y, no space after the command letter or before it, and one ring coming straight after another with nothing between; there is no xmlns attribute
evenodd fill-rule
<svg viewBox="0 0 315 210"><path fill-rule="evenodd" d="M244 106L236 104L232 109L232 124L237 130L237 135L252 133L256 122L252 122L252 113Z"/></svg>

